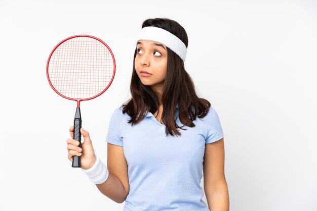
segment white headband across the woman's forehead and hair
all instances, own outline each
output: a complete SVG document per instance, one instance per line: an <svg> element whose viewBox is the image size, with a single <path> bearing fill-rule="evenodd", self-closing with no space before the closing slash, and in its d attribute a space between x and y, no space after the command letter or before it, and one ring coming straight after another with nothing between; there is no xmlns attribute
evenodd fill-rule
<svg viewBox="0 0 317 211"><path fill-rule="evenodd" d="M175 54L185 62L187 52L186 45L171 32L159 27L147 26L141 29L137 40L140 39L152 40L165 44L165 46L173 50Z"/></svg>

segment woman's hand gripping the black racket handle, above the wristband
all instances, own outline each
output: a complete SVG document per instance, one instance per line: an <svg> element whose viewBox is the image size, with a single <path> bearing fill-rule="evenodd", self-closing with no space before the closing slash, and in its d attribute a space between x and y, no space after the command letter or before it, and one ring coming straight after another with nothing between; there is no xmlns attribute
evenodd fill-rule
<svg viewBox="0 0 317 211"><path fill-rule="evenodd" d="M73 131L74 126L71 126L69 128L71 138L66 141L68 160L72 162L73 155L81 156L81 168L90 169L96 162L96 155L89 133L81 128L81 133L84 136L84 142L82 142L82 147L79 147L79 141L73 139Z"/></svg>

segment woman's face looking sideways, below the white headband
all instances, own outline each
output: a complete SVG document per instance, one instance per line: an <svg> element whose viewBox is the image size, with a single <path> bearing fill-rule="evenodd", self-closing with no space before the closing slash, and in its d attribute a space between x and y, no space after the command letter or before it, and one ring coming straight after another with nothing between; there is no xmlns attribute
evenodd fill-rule
<svg viewBox="0 0 317 211"><path fill-rule="evenodd" d="M162 93L167 72L166 46L160 42L138 40L134 67L142 84Z"/></svg>

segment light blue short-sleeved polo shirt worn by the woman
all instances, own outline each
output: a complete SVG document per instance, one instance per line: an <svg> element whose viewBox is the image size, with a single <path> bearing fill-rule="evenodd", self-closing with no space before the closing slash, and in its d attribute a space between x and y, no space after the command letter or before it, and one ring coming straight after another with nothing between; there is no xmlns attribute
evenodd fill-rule
<svg viewBox="0 0 317 211"><path fill-rule="evenodd" d="M122 146L128 163L130 192L124 211L210 211L203 201L205 144L223 137L216 111L196 118L195 127L184 126L181 136L166 136L166 126L152 113L136 125L128 123L130 116L123 108L113 112L106 142ZM174 119L178 118L178 107Z"/></svg>

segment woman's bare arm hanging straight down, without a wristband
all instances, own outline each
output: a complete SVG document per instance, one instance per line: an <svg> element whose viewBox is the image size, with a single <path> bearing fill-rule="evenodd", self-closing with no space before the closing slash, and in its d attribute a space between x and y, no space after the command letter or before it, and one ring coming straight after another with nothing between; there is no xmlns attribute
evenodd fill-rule
<svg viewBox="0 0 317 211"><path fill-rule="evenodd" d="M223 138L205 144L204 190L211 211L229 211L229 193L224 175Z"/></svg>

